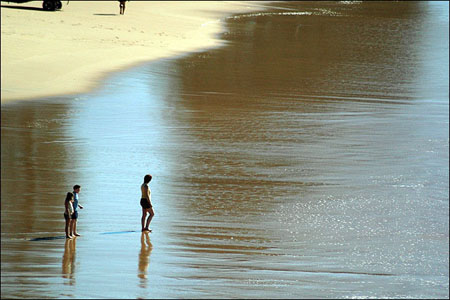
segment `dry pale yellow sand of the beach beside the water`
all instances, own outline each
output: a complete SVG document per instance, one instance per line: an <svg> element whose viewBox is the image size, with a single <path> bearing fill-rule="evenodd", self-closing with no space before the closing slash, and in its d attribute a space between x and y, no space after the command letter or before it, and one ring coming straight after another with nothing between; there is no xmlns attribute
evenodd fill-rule
<svg viewBox="0 0 450 300"><path fill-rule="evenodd" d="M266 2L267 3L267 2ZM261 2L2 2L1 102L85 92L109 72L220 44L224 17Z"/></svg>

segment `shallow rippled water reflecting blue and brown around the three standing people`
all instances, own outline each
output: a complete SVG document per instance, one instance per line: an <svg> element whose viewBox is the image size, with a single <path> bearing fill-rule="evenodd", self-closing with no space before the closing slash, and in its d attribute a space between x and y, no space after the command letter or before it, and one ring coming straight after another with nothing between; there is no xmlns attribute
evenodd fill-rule
<svg viewBox="0 0 450 300"><path fill-rule="evenodd" d="M2 297L449 296L448 3L274 6L2 106ZM83 236L40 239L74 184Z"/></svg>

